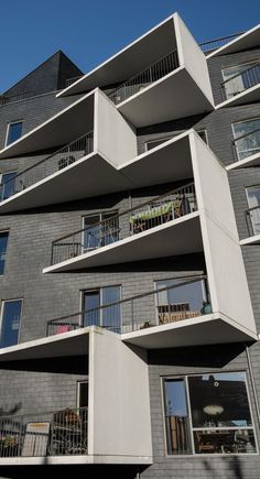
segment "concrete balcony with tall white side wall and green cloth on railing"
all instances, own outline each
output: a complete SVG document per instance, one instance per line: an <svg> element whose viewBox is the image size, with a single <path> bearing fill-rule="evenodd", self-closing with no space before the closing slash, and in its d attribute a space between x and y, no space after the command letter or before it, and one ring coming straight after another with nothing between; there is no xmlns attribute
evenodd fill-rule
<svg viewBox="0 0 260 479"><path fill-rule="evenodd" d="M227 172L195 132L188 132L182 140L184 138L188 145L187 156L177 161L177 166L172 159L170 171L180 172L182 164L193 178L192 183L184 182L182 187L164 197L113 216L108 222L89 225L85 231L55 240L53 263L57 262L43 272L87 270L204 251L212 311L221 318L229 318L256 339ZM172 144L170 141L164 146L160 145L154 153L164 148L167 150ZM144 159L147 161L147 156ZM130 167L137 168L142 160L143 156L129 162ZM151 163L151 170L152 166ZM163 161L160 167L163 171ZM120 217L124 220L121 221ZM145 336L149 333L139 334Z"/></svg>

